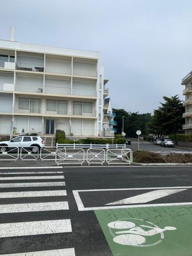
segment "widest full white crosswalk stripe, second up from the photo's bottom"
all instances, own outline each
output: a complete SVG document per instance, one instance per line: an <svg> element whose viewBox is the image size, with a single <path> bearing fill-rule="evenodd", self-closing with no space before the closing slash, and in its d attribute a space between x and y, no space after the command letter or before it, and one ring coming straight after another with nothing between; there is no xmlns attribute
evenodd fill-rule
<svg viewBox="0 0 192 256"><path fill-rule="evenodd" d="M72 232L71 220L29 221L0 224L0 237L32 236Z"/></svg>

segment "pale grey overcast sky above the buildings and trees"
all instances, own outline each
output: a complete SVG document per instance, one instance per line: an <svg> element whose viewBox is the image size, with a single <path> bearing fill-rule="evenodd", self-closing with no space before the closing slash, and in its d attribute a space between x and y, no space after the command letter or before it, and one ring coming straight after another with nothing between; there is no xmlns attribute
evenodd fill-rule
<svg viewBox="0 0 192 256"><path fill-rule="evenodd" d="M113 108L150 112L192 70L190 0L1 1L0 38L101 52Z"/></svg>

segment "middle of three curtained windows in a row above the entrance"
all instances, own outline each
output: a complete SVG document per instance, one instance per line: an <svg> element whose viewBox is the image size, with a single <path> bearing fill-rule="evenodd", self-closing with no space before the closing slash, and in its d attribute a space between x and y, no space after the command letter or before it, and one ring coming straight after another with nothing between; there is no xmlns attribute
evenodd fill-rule
<svg viewBox="0 0 192 256"><path fill-rule="evenodd" d="M56 112L60 115L67 115L68 101L67 100L51 100L47 99L47 111Z"/></svg>

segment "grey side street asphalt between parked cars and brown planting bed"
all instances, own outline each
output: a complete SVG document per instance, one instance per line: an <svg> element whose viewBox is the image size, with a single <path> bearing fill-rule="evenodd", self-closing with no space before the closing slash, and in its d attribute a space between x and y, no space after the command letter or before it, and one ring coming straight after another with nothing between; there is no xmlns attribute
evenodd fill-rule
<svg viewBox="0 0 192 256"><path fill-rule="evenodd" d="M131 148L132 151L138 150L138 139L131 138L131 145L127 145L127 147ZM192 149L185 150L177 147L162 147L160 145L154 145L151 142L143 141L141 139L139 140L139 149L143 151L157 152L161 155L167 155L169 153L192 153Z"/></svg>

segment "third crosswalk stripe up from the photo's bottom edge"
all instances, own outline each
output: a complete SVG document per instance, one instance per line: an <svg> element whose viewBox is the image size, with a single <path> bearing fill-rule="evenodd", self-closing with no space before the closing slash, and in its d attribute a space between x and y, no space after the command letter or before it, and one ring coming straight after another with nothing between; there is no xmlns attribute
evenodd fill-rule
<svg viewBox="0 0 192 256"><path fill-rule="evenodd" d="M29 211L47 211L47 210L69 210L69 204L66 201L66 202L45 202L45 203L24 203L24 204L22 203L22 204L1 204L0 205L0 214L9 214L11 212L29 212Z"/></svg>

